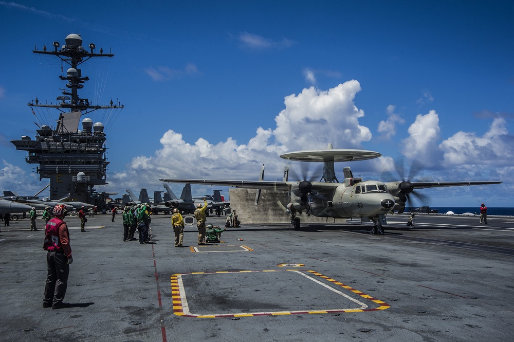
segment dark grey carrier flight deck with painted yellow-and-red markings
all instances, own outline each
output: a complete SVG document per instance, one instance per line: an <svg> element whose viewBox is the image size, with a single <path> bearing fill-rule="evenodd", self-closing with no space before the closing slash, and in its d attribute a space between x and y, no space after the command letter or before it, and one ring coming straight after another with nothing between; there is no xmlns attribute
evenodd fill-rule
<svg viewBox="0 0 514 342"><path fill-rule="evenodd" d="M44 221L0 228L2 341L511 341L514 218L388 215L371 223L245 224L221 243L123 242L121 215L68 217L65 301L43 308ZM207 223L224 227L225 218Z"/></svg>

